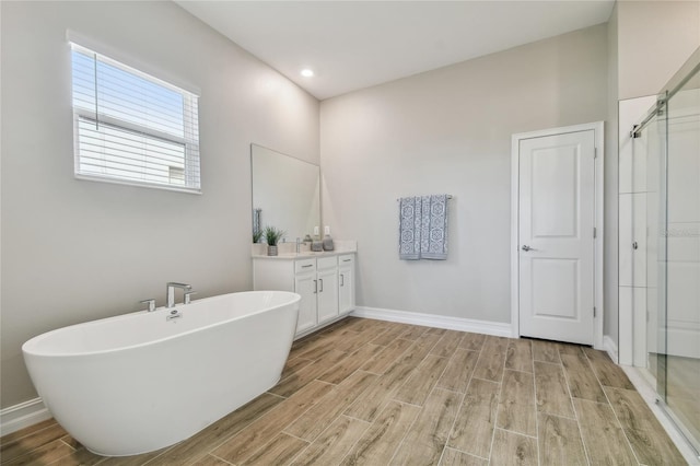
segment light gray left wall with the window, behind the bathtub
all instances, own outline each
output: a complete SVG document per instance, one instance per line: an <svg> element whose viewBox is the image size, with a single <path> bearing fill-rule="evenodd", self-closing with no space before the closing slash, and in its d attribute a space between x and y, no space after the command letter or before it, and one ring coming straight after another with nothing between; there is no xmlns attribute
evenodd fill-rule
<svg viewBox="0 0 700 466"><path fill-rule="evenodd" d="M171 2L0 2L2 407L21 345L69 324L250 289L249 144L318 162L319 105ZM201 196L77 180L66 30L201 90Z"/></svg>

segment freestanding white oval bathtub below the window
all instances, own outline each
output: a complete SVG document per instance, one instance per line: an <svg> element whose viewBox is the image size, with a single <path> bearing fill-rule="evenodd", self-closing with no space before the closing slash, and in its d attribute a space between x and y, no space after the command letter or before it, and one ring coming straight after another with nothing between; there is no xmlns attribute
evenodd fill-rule
<svg viewBox="0 0 700 466"><path fill-rule="evenodd" d="M73 325L22 350L56 420L88 450L126 456L172 445L280 378L300 295L223 294Z"/></svg>

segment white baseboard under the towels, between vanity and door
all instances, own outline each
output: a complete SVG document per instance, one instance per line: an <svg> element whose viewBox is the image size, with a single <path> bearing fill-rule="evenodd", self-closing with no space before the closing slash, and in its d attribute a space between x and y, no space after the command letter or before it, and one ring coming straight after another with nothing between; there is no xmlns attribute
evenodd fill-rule
<svg viewBox="0 0 700 466"><path fill-rule="evenodd" d="M472 331L476 334L493 335L497 337L515 337L511 324L500 322L474 321L470 318L450 317L445 315L421 314L415 312L383 310L377 307L358 306L350 315L355 317L374 318L377 321L399 322L401 324L424 325L428 327L446 328L448 330Z"/></svg>

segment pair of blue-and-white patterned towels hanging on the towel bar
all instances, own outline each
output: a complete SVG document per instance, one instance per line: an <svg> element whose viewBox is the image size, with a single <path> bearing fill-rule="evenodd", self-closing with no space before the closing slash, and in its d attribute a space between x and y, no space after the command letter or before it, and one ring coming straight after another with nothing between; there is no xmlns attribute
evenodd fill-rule
<svg viewBox="0 0 700 466"><path fill-rule="evenodd" d="M399 199L399 259L447 258L447 195Z"/></svg>

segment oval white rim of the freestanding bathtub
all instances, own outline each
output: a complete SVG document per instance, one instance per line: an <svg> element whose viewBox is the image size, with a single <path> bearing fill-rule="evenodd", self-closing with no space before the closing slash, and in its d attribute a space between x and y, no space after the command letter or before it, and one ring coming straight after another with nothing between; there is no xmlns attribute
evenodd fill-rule
<svg viewBox="0 0 700 466"><path fill-rule="evenodd" d="M287 294L291 298L290 301L275 305L275 306L270 306L270 307L265 307L261 310L258 310L256 312L252 312L245 315L240 315L236 317L232 317L232 318L228 318L224 321L219 321L209 325L203 325L201 327L197 327L197 328L192 328L189 330L185 330L183 333L179 334L175 334L175 335L170 335L167 337L164 338L158 338L158 339L153 339L153 340L148 340L144 342L140 342L137 345L129 345L129 346L120 346L117 348L109 348L109 349L104 349L104 350L97 350L97 351L83 351L83 352L46 352L46 351L36 351L36 350L32 350L33 346L38 345L42 340L51 337L54 334L57 334L59 331L63 331L65 329L68 328L72 328L72 327L78 327L78 326L91 326L91 325L96 325L97 323L105 323L105 322L109 322L109 321L118 321L118 319L125 319L125 318L132 318L137 315L144 315L144 314L153 314L153 313L159 313L159 312L163 312L166 310L165 306L163 307L158 307L155 311L153 312L149 312L149 311L137 311L137 312L131 312L131 313L126 313L126 314L119 314L119 315L115 315L115 316L110 316L110 317L103 317L103 318L97 318L94 321L86 321L86 322L82 322L82 323L78 323L78 324L71 324L71 325L67 325L63 327L59 327L56 328L54 330L48 330L45 331L43 334L39 334L35 337L30 338L28 340L26 340L24 343L22 343L22 353L24 357L38 357L38 358L69 358L69 357L92 357L92 356L102 356L102 354L109 354L109 353L116 353L116 352L121 352L121 351L128 351L128 350L132 350L132 349L138 349L138 348L143 348L143 347L148 347L151 345L155 345L155 343L160 343L160 342L164 342L164 341L168 341L168 340L173 340L176 338L180 338L180 337L185 337L187 335L191 335L195 334L197 331L201 331L201 330L206 330L208 328L213 328L213 327L218 327L220 325L223 324L228 324L231 322L235 322L235 321L240 321L246 317L250 317L257 314L261 314L265 312L271 312L281 307L285 307L289 305L294 305L298 304L301 301L301 295L299 293L294 293L292 291L280 291L280 290L254 290L254 291L234 291L232 293L225 293L225 294L217 294L213 296L208 296L208 298L202 298L200 300L192 300L191 304L195 303L206 303L207 301L210 300L214 300L214 299L220 299L223 296L229 296L229 295L233 295L233 294L265 294L265 293L279 293L279 294ZM171 307L170 310L173 308L178 308L182 310L183 306L188 306L191 304L176 304L174 307ZM187 307L185 307L187 308Z"/></svg>

